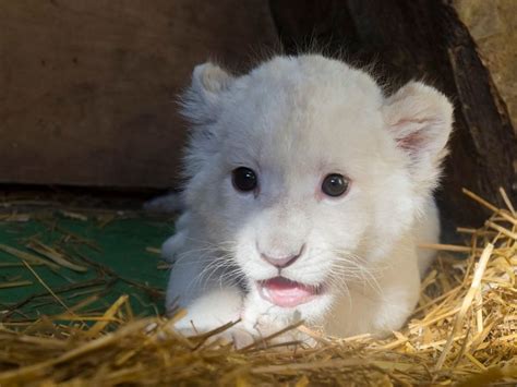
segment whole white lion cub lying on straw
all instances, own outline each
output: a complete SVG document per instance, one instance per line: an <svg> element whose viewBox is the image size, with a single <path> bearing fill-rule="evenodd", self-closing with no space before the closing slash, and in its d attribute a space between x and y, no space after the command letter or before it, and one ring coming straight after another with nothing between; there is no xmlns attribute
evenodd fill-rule
<svg viewBox="0 0 517 387"><path fill-rule="evenodd" d="M182 112L185 209L163 247L178 328L401 327L432 259L418 243L440 233L443 94L410 82L387 97L341 61L275 57L242 76L196 66Z"/></svg>

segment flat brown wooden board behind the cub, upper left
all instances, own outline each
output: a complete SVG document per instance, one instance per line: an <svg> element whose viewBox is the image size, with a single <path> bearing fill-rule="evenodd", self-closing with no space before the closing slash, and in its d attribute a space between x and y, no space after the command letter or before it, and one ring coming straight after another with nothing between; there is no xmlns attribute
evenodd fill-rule
<svg viewBox="0 0 517 387"><path fill-rule="evenodd" d="M261 0L1 1L0 182L172 185L193 66L275 44Z"/></svg>

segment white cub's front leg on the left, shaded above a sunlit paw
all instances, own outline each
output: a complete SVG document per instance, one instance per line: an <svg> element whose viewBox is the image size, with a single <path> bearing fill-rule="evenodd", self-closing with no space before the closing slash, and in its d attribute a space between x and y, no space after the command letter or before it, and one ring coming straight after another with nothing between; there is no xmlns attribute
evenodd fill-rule
<svg viewBox="0 0 517 387"><path fill-rule="evenodd" d="M240 318L244 291L238 271L225 262L216 249L191 232L189 213L176 223L177 233L163 245L163 255L172 262L167 287L169 314L177 307L187 315L176 328L185 335L208 331Z"/></svg>

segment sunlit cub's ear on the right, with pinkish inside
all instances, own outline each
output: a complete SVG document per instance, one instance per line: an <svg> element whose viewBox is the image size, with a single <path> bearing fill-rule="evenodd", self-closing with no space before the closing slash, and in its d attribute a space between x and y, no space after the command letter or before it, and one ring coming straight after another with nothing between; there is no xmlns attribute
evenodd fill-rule
<svg viewBox="0 0 517 387"><path fill-rule="evenodd" d="M386 98L384 121L410 160L410 171L422 193L437 184L441 161L453 129L453 105L442 93L410 82Z"/></svg>

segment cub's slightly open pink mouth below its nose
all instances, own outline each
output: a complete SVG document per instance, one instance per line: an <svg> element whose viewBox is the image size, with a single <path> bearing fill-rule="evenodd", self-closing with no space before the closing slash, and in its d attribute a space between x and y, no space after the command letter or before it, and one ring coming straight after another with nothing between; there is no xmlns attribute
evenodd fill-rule
<svg viewBox="0 0 517 387"><path fill-rule="evenodd" d="M304 304L315 299L323 291L321 286L304 285L284 277L257 281L257 288L264 300L281 307Z"/></svg>

